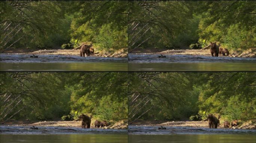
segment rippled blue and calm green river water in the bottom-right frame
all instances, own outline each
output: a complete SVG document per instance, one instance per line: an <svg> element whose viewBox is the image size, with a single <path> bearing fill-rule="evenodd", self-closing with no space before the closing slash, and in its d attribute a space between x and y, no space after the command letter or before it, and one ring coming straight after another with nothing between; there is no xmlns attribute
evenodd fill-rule
<svg viewBox="0 0 256 143"><path fill-rule="evenodd" d="M255 143L256 131L225 128L129 126L129 143Z"/></svg>

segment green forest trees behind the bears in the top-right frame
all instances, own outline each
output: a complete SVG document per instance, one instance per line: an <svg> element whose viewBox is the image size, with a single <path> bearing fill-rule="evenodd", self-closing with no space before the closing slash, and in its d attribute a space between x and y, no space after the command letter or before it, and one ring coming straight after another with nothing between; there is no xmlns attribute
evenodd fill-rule
<svg viewBox="0 0 256 143"><path fill-rule="evenodd" d="M256 1L129 3L129 52L139 48L200 49L214 41L229 50L256 47Z"/></svg>

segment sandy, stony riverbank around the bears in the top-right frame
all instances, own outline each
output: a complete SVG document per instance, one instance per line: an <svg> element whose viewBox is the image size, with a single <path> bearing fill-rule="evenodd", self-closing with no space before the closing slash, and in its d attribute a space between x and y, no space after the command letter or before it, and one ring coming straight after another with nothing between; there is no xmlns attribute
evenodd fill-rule
<svg viewBox="0 0 256 143"><path fill-rule="evenodd" d="M190 49L183 49L183 50L167 50L167 49L137 49L132 51L132 54L163 54L163 55L204 55L204 56L211 56L210 50L190 50ZM219 56L223 56L220 55ZM256 48L250 48L246 51L230 51L228 57L256 57Z"/></svg>

